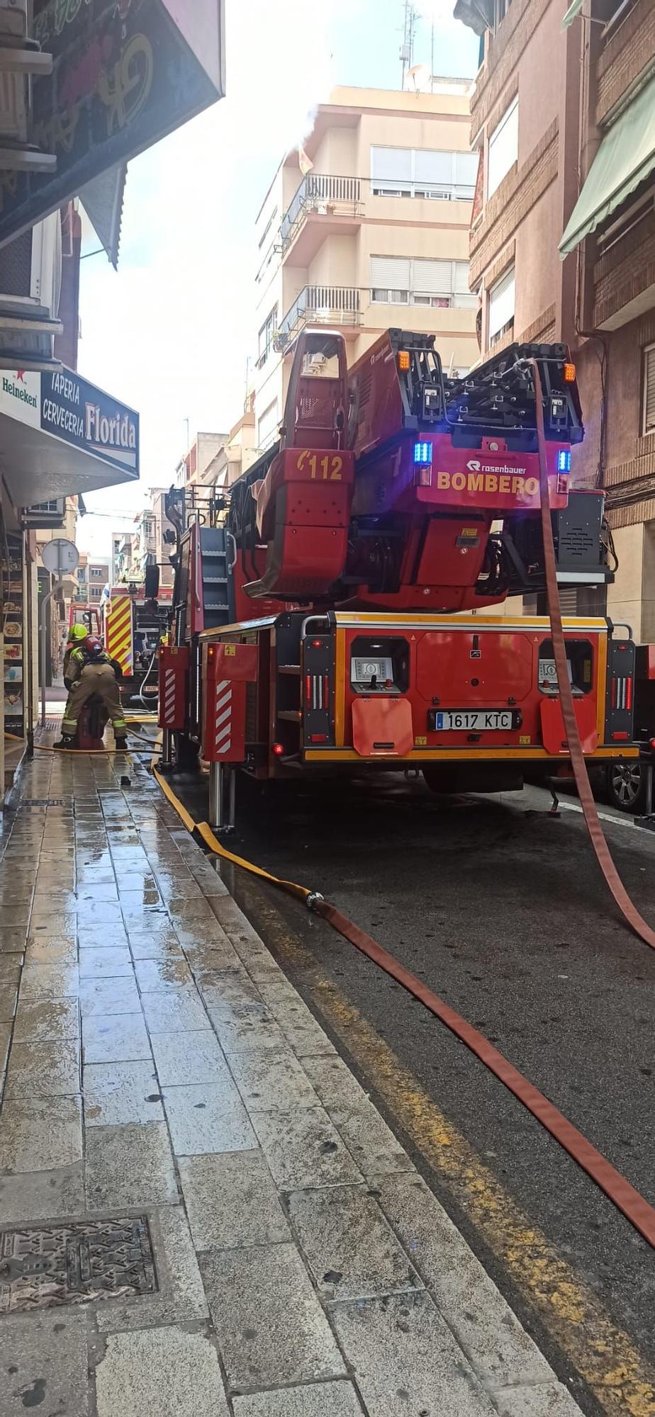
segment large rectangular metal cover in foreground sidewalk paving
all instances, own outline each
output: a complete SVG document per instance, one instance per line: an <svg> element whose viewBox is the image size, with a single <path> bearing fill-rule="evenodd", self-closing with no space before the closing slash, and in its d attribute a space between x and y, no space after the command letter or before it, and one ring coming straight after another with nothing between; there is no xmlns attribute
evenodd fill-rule
<svg viewBox="0 0 655 1417"><path fill-rule="evenodd" d="M0 1230L0 1314L155 1294L146 1216Z"/></svg>

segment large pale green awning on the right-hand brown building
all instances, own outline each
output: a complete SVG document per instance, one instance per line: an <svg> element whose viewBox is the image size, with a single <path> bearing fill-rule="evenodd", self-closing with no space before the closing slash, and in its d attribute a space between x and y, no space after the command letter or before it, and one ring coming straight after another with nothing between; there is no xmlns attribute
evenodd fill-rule
<svg viewBox="0 0 655 1417"><path fill-rule="evenodd" d="M655 78L605 133L560 241L574 251L655 169Z"/></svg>

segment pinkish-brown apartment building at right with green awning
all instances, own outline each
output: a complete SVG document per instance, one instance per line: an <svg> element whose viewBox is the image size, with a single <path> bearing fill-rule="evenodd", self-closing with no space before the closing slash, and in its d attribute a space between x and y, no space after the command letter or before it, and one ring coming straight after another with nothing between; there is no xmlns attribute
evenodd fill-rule
<svg viewBox="0 0 655 1417"><path fill-rule="evenodd" d="M570 344L586 422L573 476L607 490L620 561L607 611L652 640L655 6L458 0L455 14L483 35L471 132L482 350Z"/></svg>

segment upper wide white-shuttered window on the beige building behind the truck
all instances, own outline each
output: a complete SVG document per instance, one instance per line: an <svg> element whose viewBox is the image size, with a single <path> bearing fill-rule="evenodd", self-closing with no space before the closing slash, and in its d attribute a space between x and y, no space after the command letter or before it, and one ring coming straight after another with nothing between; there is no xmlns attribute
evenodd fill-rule
<svg viewBox="0 0 655 1417"><path fill-rule="evenodd" d="M374 197L427 197L472 201L476 153L448 153L428 147L371 147Z"/></svg>

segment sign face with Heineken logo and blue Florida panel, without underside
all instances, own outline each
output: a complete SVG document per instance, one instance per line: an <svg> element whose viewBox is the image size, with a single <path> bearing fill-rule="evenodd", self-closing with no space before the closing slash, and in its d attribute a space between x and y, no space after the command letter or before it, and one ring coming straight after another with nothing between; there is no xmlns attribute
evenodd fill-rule
<svg viewBox="0 0 655 1417"><path fill-rule="evenodd" d="M129 480L139 476L139 414L72 370L4 373L0 414L119 468Z"/></svg>

